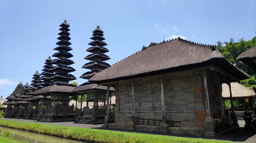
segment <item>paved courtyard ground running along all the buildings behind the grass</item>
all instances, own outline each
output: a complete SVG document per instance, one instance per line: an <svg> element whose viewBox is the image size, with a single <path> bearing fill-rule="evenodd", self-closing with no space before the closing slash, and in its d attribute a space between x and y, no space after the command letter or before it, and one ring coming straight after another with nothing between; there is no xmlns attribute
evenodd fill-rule
<svg viewBox="0 0 256 143"><path fill-rule="evenodd" d="M15 119L15 118L4 118L0 120L6 121L22 121L22 122L29 122L29 123L42 123L42 124L49 124L49 125L60 125L60 126L71 126L71 127L80 127L80 128L91 128L91 129L106 129L102 128L101 125L92 125L92 124L81 124L81 123L73 123L73 122L57 122L57 123L47 123L47 122L38 122L35 120L25 120L25 119ZM190 137L190 138L204 138L204 139L214 139L214 140L227 140L233 142L244 142L244 143L256 143L256 131L244 131L244 120L238 121L240 128L234 130L232 132L224 133L218 137L203 137L203 136L193 136L193 135L178 135L178 134L170 134L170 133L160 133L160 132L146 132L146 131L127 131L122 129L108 129L108 130L115 130L115 131L122 131L122 132L140 132L140 133L147 133L147 134L157 134L157 135L171 135L177 137Z"/></svg>

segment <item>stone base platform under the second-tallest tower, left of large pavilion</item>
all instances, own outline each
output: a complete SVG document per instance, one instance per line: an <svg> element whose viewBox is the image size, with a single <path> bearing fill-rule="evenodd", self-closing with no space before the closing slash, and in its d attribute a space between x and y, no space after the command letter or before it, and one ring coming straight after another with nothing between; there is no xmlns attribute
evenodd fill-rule
<svg viewBox="0 0 256 143"><path fill-rule="evenodd" d="M103 124L105 116L78 116L76 117L76 121L74 123L84 123L84 124Z"/></svg>

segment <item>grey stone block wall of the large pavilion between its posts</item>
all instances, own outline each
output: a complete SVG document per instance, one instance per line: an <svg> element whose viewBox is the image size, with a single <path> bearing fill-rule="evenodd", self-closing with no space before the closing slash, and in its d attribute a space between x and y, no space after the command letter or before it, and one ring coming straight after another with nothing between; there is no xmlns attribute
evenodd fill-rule
<svg viewBox="0 0 256 143"><path fill-rule="evenodd" d="M131 121L132 87L129 81L119 83L119 112L115 123ZM161 84L157 77L135 81L135 117L161 120ZM197 126L193 72L164 76L166 120L177 126Z"/></svg>

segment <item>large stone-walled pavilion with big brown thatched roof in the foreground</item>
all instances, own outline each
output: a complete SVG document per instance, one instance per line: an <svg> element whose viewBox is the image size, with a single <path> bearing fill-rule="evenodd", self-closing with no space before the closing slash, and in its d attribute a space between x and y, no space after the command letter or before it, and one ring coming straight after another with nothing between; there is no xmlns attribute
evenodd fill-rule
<svg viewBox="0 0 256 143"><path fill-rule="evenodd" d="M217 136L239 127L230 83L248 78L215 46L176 38L128 56L89 82L115 87L114 123L106 116L103 127ZM224 112L223 83L232 115Z"/></svg>

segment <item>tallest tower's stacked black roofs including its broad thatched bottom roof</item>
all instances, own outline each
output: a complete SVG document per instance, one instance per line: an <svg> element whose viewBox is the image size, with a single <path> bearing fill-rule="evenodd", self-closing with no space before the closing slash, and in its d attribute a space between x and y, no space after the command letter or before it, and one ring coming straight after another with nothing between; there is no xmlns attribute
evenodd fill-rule
<svg viewBox="0 0 256 143"><path fill-rule="evenodd" d="M54 59L50 62L50 64L56 64L51 68L48 68L48 72L54 72L54 75L47 77L48 80L53 81L53 84L47 87L43 87L39 90L36 90L34 95L49 95L50 93L72 93L72 90L76 87L72 84L69 84L69 81L75 80L76 77L72 74L69 74L73 71L76 71L73 67L69 65L74 64L72 60L68 59L73 57L70 50L73 50L69 47L71 43L69 40L70 25L65 20L60 25L60 35L57 39L60 40L56 43L58 47L54 48L53 50L58 50L57 53L54 53L52 56L57 57L58 59ZM41 96L40 96L41 97ZM38 96L39 98L39 96Z"/></svg>

